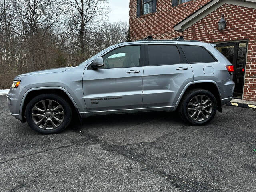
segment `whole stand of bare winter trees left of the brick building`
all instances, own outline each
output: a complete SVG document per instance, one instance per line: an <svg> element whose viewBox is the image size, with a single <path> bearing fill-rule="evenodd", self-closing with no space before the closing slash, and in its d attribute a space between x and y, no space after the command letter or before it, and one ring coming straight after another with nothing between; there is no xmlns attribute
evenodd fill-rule
<svg viewBox="0 0 256 192"><path fill-rule="evenodd" d="M72 66L124 42L109 23L108 0L0 0L0 89L17 74Z"/></svg>

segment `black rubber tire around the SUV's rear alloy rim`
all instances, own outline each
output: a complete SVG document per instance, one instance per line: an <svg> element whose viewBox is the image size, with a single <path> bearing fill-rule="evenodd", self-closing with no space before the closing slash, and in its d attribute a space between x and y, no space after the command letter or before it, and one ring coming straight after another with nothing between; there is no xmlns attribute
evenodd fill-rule
<svg viewBox="0 0 256 192"><path fill-rule="evenodd" d="M211 114L204 120L201 121L196 121L194 119L192 119L191 115L188 112L188 105L190 103L190 101L196 97L196 96L200 96L200 95L204 95L206 97L208 97L211 102L212 102L212 108L211 108ZM195 107L196 108L196 107ZM182 97L182 100L180 101L180 104L178 106L178 113L180 115L180 117L187 123L192 124L192 125L204 125L208 122L210 122L217 111L217 100L214 97L214 95L208 91L208 90L204 90L204 89L192 89L189 90L188 92L186 92L184 94L184 96Z"/></svg>

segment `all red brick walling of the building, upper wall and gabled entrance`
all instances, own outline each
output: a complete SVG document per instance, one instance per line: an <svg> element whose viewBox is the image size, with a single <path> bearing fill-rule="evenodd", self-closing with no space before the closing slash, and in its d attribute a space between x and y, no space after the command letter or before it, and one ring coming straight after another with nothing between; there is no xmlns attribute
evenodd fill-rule
<svg viewBox="0 0 256 192"><path fill-rule="evenodd" d="M173 26L196 11L209 0L194 0L172 7L171 0L158 0L156 13L136 18L137 0L130 0L130 29L132 40L152 35L154 39L172 39L183 35L186 40L226 42L248 40L248 56L244 82L244 100L256 101L256 10L224 4L183 33ZM221 14L227 21L225 30L218 30Z"/></svg>

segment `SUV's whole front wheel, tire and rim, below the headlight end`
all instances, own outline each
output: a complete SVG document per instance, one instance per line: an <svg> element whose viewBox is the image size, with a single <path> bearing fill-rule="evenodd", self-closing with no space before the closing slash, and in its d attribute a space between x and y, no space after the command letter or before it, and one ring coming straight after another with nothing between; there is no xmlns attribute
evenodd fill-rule
<svg viewBox="0 0 256 192"><path fill-rule="evenodd" d="M56 94L42 94L27 104L25 117L32 129L43 134L54 134L70 124L72 110L64 98Z"/></svg>

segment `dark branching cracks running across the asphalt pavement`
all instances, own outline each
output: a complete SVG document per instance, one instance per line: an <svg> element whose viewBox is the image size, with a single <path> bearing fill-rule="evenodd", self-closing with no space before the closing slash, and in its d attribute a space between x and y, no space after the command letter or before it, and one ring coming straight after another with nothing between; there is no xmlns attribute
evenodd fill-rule
<svg viewBox="0 0 256 192"><path fill-rule="evenodd" d="M146 171L146 172L155 174L157 176L160 176L160 177L164 178L168 183L172 184L172 186L174 186L175 188L177 188L179 190L187 191L187 192L190 192L190 191L221 192L222 190L214 188L214 186L210 185L206 181L200 182L200 181L186 180L186 179L182 179L178 176L169 175L169 174L167 174L163 171L157 170L157 168L155 166L152 166L152 165L148 164L144 160L148 150L150 150L153 146L156 146L158 142L162 142L162 138L164 138L166 136L173 136L174 134L181 133L181 132L184 132L186 130L187 130L187 126L183 126L178 131L170 132L170 133L164 134L161 137L156 138L155 141L138 142L138 143L128 144L126 146L119 146L119 145L116 145L116 144L108 144L107 142L103 142L102 140L100 140L100 138L97 137L97 136L88 134L87 132L84 132L83 130L76 129L76 130L74 130L74 132L80 134L81 136L83 136L83 138L80 139L80 140L71 141L70 145L61 146L61 147L57 147L57 148L52 148L52 149L48 149L48 150L43 150L43 151L36 152L36 153L33 153L33 154L28 154L28 155L22 156L22 157L12 158L12 159L6 160L4 162L0 162L0 165L4 164L6 162L12 161L12 160L26 158L28 156L40 154L40 153L43 153L43 152L48 152L48 151L51 151L51 150L57 150L57 149L61 149L61 148L68 148L70 146L76 146L76 145L78 145L78 146L87 146L87 145L93 145L93 144L100 144L102 150L106 150L108 152L114 152L116 154L119 154L119 155L122 155L122 156L128 158L129 160L132 160L134 162L139 163L142 166L141 171ZM135 148L134 148L134 146L135 146ZM143 152L140 152L141 150ZM15 188L13 188L11 191L23 188L25 185L26 184L22 183L21 185L16 186Z"/></svg>

